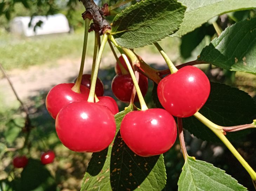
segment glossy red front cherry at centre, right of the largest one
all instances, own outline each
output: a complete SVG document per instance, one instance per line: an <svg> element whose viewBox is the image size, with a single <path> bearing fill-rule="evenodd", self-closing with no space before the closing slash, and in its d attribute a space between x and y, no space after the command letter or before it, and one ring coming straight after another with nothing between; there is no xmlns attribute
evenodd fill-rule
<svg viewBox="0 0 256 191"><path fill-rule="evenodd" d="M164 109L127 113L120 127L126 145L139 156L154 156L173 146L177 129L173 116Z"/></svg>

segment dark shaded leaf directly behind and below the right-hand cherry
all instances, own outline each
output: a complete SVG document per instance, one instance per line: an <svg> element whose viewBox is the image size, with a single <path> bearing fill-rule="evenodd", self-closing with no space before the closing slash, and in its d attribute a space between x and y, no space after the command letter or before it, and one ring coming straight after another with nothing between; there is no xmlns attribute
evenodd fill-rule
<svg viewBox="0 0 256 191"><path fill-rule="evenodd" d="M244 91L211 82L210 96L199 112L213 123L221 126L235 126L252 123L256 116L256 104ZM183 127L197 138L220 142L217 136L195 117L183 118ZM230 141L239 141L252 129L227 133Z"/></svg>

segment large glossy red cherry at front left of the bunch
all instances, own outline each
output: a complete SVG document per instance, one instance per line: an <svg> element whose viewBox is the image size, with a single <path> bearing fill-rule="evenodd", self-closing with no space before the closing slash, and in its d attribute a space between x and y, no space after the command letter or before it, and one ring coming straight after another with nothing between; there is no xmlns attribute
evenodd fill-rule
<svg viewBox="0 0 256 191"><path fill-rule="evenodd" d="M75 152L99 152L107 148L116 131L110 109L87 101L62 108L55 127L62 144Z"/></svg>

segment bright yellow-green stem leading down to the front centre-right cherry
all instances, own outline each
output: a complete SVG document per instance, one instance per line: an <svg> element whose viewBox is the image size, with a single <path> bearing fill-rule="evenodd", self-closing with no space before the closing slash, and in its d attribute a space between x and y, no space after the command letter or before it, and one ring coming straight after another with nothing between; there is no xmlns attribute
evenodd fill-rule
<svg viewBox="0 0 256 191"><path fill-rule="evenodd" d="M147 110L148 107L147 107L147 105L146 105L146 103L145 103L145 101L144 101L144 99L143 99L143 96L142 96L141 91L140 91L139 84L138 84L138 82L137 82L137 80L136 80L136 77L135 77L135 75L134 75L134 72L133 72L133 68L132 68L132 66L131 66L130 63L129 63L129 60L128 60L126 54L127 54L127 55L129 56L129 58L131 59L132 63L134 63L134 60L137 60L137 57L135 56L135 54L132 53L131 50L129 50L129 49L122 49L122 47L119 46L119 45L116 43L116 41L115 41L115 39L114 39L114 37L113 37L112 35L108 35L108 38L109 38L109 40L116 46L116 48L119 50L119 52L122 54L122 57L123 57L123 59L124 59L126 65L127 65L128 71L129 71L129 73L130 73L130 75L131 75L131 77L132 77L134 86L135 86L135 88L136 88L137 95L138 95L138 97L139 97L139 101L140 101L140 105L141 105L141 110L142 110L142 111ZM126 53L126 54L124 54L124 53ZM136 62L136 61L135 61L135 62Z"/></svg>

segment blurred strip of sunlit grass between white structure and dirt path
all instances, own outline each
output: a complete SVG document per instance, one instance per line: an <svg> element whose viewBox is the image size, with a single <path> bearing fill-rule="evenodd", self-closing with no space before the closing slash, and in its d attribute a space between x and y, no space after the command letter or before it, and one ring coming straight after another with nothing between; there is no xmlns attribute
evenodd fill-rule
<svg viewBox="0 0 256 191"><path fill-rule="evenodd" d="M53 34L37 37L18 37L0 28L0 62L6 70L14 68L25 69L32 65L50 64L54 65L56 60L62 57L78 58L82 55L83 28L76 30L73 34ZM178 44L175 38L166 38L160 44L171 57L178 54ZM93 56L94 33L88 36L86 56ZM139 54L157 53L153 45L136 49ZM103 53L110 53L108 44Z"/></svg>

